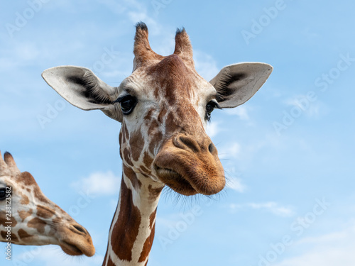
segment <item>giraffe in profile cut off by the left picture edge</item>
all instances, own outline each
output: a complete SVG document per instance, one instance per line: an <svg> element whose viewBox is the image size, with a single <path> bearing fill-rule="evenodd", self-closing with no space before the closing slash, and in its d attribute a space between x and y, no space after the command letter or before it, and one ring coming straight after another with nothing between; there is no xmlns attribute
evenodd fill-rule
<svg viewBox="0 0 355 266"><path fill-rule="evenodd" d="M0 242L60 245L68 255L95 253L92 238L69 214L40 191L29 172L21 172L10 153L0 153Z"/></svg>

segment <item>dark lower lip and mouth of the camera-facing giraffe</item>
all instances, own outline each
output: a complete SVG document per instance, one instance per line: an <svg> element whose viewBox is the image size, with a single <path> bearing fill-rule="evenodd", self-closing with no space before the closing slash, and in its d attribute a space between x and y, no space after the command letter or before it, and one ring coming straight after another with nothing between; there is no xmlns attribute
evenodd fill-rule
<svg viewBox="0 0 355 266"><path fill-rule="evenodd" d="M168 185L175 192L183 194L185 196L195 195L198 192L192 187L190 182L188 182L182 174L178 172L168 169L168 168L160 168L155 165L155 172L158 175L159 179L164 182L164 184Z"/></svg>

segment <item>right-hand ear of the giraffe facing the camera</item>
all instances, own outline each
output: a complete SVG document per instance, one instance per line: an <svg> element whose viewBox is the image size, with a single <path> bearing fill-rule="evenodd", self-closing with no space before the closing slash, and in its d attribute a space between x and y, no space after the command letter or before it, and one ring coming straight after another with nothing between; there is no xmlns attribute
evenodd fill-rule
<svg viewBox="0 0 355 266"><path fill-rule="evenodd" d="M251 99L272 71L265 63L239 63L223 67L209 83L217 90L219 106L233 108Z"/></svg>

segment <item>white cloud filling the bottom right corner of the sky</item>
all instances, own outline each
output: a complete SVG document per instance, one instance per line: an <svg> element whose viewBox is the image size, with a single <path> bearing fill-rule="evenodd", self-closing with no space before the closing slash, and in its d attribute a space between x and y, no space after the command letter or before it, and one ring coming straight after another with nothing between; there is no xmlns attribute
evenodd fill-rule
<svg viewBox="0 0 355 266"><path fill-rule="evenodd" d="M354 266L354 238L355 223L342 231L315 238L303 238L293 245L293 249L302 248L305 251L301 255L287 258L275 266Z"/></svg>

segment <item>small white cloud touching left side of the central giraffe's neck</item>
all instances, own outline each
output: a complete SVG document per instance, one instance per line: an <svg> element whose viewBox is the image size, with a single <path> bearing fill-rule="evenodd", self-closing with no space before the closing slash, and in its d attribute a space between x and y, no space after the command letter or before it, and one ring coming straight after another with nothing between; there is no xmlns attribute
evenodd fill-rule
<svg viewBox="0 0 355 266"><path fill-rule="evenodd" d="M72 182L71 187L93 195L114 195L119 193L121 177L113 172L94 172L89 177Z"/></svg>

